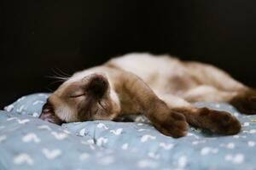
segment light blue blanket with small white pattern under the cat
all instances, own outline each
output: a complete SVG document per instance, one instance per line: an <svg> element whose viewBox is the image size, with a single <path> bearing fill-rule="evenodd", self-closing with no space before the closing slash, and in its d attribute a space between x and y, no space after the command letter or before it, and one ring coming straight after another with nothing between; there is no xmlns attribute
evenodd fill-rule
<svg viewBox="0 0 256 170"><path fill-rule="evenodd" d="M144 120L66 123L62 127L37 117L48 94L32 94L0 111L0 169L256 169L256 116L232 106L197 103L230 111L241 133L219 136L189 128L172 139Z"/></svg>

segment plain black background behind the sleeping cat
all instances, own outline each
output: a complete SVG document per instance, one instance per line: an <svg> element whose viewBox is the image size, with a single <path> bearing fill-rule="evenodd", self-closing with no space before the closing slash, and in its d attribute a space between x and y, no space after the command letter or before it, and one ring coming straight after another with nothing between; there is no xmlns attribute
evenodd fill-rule
<svg viewBox="0 0 256 170"><path fill-rule="evenodd" d="M129 52L200 60L256 86L255 0L3 0L0 29L0 107L54 90L54 71Z"/></svg>

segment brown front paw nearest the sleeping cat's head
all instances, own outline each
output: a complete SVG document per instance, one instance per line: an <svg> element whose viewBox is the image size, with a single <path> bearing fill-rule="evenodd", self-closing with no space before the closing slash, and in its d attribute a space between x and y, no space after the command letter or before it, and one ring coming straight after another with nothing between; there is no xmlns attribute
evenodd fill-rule
<svg viewBox="0 0 256 170"><path fill-rule="evenodd" d="M172 112L161 122L154 122L154 127L167 136L183 137L187 134L188 123L183 115Z"/></svg>

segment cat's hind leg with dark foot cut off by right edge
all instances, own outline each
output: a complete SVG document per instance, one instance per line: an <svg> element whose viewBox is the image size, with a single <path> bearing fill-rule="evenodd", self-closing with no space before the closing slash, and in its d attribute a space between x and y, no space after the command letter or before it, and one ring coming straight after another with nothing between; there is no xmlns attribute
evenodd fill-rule
<svg viewBox="0 0 256 170"><path fill-rule="evenodd" d="M207 89L206 94L201 93L201 98L210 99L210 91L216 91L217 94L214 95L213 93L212 99L228 102L234 105L241 113L256 114L256 90L236 81L225 71L212 65L188 62L186 66L198 82L219 90ZM207 95L207 97L203 97L203 95Z"/></svg>

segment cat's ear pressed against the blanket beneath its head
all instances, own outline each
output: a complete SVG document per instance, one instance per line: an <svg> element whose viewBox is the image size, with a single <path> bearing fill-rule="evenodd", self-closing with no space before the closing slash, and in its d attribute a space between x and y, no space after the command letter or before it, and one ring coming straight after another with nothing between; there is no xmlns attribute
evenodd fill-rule
<svg viewBox="0 0 256 170"><path fill-rule="evenodd" d="M46 102L46 104L44 104L42 113L39 118L46 122L52 122L57 125L61 125L63 123L63 121L61 121L61 119L55 115L54 108L52 105L49 104L48 101Z"/></svg>

